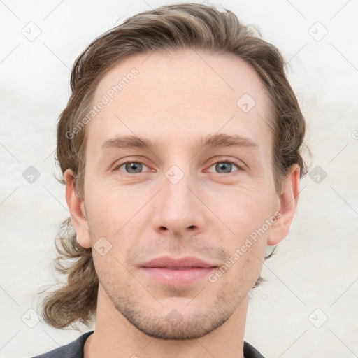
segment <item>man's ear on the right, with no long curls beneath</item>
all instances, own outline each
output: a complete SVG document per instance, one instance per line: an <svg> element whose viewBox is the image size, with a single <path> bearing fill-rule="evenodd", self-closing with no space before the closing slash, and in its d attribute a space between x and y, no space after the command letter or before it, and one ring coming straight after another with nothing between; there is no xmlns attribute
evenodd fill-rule
<svg viewBox="0 0 358 358"><path fill-rule="evenodd" d="M288 175L282 182L280 192L280 213L277 215L275 223L270 227L267 245L277 245L289 234L296 206L299 201L299 173L298 164L289 167Z"/></svg>

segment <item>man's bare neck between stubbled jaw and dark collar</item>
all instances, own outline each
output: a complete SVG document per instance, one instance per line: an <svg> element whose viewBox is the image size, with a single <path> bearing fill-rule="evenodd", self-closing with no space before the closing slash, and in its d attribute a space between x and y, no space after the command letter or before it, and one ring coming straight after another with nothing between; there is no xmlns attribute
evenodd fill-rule
<svg viewBox="0 0 358 358"><path fill-rule="evenodd" d="M244 358L248 296L220 327L201 338L163 340L144 334L134 327L110 301L99 285L94 334L87 338L84 358ZM89 349L90 348L90 349Z"/></svg>

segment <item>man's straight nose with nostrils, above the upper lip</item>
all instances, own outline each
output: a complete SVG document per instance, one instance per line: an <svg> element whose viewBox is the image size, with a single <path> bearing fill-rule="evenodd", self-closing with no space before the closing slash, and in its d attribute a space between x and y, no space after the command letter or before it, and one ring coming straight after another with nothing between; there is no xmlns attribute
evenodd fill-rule
<svg viewBox="0 0 358 358"><path fill-rule="evenodd" d="M176 173L178 175L178 173ZM188 175L189 176L189 175ZM162 189L155 196L152 225L155 231L169 236L199 234L205 227L205 205L200 191L188 176L178 182L170 176L163 178Z"/></svg>

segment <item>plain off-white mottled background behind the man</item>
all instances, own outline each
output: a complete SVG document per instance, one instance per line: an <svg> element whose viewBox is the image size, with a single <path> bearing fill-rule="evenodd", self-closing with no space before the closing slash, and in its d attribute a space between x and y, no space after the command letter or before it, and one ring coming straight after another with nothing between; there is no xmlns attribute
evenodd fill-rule
<svg viewBox="0 0 358 358"><path fill-rule="evenodd" d="M57 117L69 99L71 66L90 41L164 3L173 2L0 1L0 357L38 355L90 330L30 328L22 320L36 323L28 310L54 280L55 234L69 215L55 180ZM245 341L267 358L358 357L358 1L214 4L257 24L289 61L308 122L310 171L327 173L319 183L301 181L291 232L264 264L268 282L251 294ZM34 41L22 34L29 26L40 31L29 22L41 30ZM31 165L41 173L33 184L22 177Z"/></svg>

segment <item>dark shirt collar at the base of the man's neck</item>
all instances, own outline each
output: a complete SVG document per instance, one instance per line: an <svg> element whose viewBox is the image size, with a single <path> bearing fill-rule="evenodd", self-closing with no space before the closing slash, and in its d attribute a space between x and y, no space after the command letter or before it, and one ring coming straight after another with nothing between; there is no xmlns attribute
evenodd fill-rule
<svg viewBox="0 0 358 358"><path fill-rule="evenodd" d="M51 350L43 355L37 355L33 358L83 358L83 346L86 343L88 336L94 331L86 332L82 336L79 336L76 341L73 341L67 345ZM248 342L243 343L243 355L245 358L264 358L258 350L252 347Z"/></svg>

